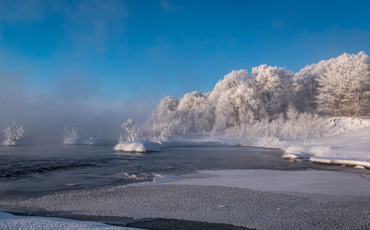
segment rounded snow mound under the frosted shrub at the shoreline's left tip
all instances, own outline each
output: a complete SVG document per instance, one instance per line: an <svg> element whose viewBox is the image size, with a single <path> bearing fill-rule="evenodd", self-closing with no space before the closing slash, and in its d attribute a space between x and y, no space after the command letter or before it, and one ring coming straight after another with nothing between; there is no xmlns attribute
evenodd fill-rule
<svg viewBox="0 0 370 230"><path fill-rule="evenodd" d="M124 141L118 143L114 149L124 152L153 152L162 151L163 146L151 141Z"/></svg>

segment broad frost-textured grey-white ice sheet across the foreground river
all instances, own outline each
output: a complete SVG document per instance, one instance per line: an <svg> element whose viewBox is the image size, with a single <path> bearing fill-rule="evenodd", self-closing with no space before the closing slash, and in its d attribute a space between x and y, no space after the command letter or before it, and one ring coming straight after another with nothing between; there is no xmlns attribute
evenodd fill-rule
<svg viewBox="0 0 370 230"><path fill-rule="evenodd" d="M369 204L369 175L317 170L198 170L158 175L154 182L0 202L19 210L184 219L255 229L369 229Z"/></svg>

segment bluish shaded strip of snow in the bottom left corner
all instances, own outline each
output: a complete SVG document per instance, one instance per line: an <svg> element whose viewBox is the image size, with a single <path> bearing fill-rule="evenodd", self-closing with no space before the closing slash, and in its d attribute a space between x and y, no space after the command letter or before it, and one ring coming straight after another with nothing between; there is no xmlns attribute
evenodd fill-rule
<svg viewBox="0 0 370 230"><path fill-rule="evenodd" d="M116 227L108 224L90 221L77 221L55 217L14 216L10 213L0 212L1 230L67 230L67 229L96 229L96 230L136 230L135 228Z"/></svg>

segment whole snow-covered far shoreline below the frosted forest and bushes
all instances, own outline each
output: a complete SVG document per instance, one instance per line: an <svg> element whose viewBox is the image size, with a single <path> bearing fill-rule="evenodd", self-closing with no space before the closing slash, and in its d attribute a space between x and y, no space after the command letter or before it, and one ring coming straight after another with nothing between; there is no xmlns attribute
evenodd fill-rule
<svg viewBox="0 0 370 230"><path fill-rule="evenodd" d="M370 120L339 117L326 118L326 123L325 133L327 136L311 137L303 145L279 137L214 141L184 138L181 141L162 141L159 143L127 141L117 144L114 149L125 152L150 152L173 147L248 146L285 150L283 158L303 158L313 162L360 165L370 168Z"/></svg>

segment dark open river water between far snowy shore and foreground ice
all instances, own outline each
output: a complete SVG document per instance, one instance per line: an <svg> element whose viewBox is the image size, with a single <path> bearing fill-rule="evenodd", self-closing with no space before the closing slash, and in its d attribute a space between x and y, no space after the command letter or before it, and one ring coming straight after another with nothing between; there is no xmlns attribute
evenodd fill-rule
<svg viewBox="0 0 370 230"><path fill-rule="evenodd" d="M195 168L322 169L364 173L364 170L351 167L287 160L281 158L283 151L276 149L171 148L162 152L125 153L113 148L90 145L2 146L0 196L138 183L154 178L152 172L178 175Z"/></svg>

